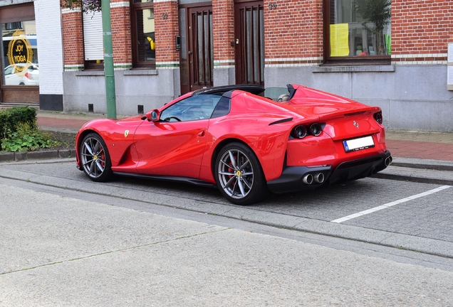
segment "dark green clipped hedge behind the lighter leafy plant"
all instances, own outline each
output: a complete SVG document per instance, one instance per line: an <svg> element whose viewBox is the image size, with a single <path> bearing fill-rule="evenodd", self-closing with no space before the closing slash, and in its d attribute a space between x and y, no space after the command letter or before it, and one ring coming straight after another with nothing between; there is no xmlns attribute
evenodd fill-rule
<svg viewBox="0 0 453 307"><path fill-rule="evenodd" d="M4 139L6 131L16 132L19 123L26 123L36 128L36 109L31 107L13 107L0 110L0 139Z"/></svg>

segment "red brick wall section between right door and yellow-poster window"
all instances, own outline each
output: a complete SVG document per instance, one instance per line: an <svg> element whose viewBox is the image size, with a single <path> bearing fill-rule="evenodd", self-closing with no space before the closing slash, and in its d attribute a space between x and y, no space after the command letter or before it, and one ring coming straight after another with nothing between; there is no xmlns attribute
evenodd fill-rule
<svg viewBox="0 0 453 307"><path fill-rule="evenodd" d="M322 57L323 0L264 0L264 31L266 59Z"/></svg>

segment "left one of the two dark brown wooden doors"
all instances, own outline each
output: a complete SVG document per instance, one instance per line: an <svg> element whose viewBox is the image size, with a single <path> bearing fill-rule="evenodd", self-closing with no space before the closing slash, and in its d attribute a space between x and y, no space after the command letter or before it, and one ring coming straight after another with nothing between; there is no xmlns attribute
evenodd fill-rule
<svg viewBox="0 0 453 307"><path fill-rule="evenodd" d="M187 14L182 15L187 11ZM212 6L180 9L187 30L181 39L181 94L213 86L214 42L212 41ZM187 39L186 39L187 38Z"/></svg>

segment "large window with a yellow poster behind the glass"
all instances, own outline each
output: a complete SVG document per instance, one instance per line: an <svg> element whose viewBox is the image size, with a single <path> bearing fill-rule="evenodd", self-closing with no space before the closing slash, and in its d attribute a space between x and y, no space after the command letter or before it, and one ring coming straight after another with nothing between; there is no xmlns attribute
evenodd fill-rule
<svg viewBox="0 0 453 307"><path fill-rule="evenodd" d="M390 63L390 0L324 0L328 63Z"/></svg>

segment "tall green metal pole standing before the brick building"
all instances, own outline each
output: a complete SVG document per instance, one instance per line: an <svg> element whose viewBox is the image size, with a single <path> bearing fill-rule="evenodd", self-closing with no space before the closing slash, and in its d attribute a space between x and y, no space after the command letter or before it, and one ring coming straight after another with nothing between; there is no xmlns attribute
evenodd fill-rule
<svg viewBox="0 0 453 307"><path fill-rule="evenodd" d="M110 0L101 0L103 13L103 45L105 97L107 99L107 117L116 118L115 72L113 70L112 22L110 20Z"/></svg>

